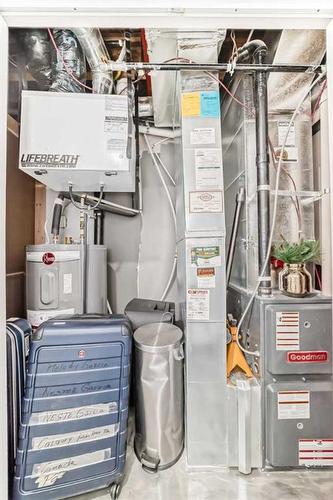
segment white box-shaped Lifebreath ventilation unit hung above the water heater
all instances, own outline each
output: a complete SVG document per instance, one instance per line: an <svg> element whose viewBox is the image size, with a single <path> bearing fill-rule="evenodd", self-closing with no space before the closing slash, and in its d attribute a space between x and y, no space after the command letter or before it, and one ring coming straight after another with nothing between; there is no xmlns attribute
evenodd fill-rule
<svg viewBox="0 0 333 500"><path fill-rule="evenodd" d="M55 191L133 192L128 97L22 92L20 169Z"/></svg>

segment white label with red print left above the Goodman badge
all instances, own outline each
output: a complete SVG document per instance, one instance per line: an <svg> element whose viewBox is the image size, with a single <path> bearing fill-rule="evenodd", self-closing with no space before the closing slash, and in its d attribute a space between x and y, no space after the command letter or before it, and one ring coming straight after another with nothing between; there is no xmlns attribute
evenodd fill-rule
<svg viewBox="0 0 333 500"><path fill-rule="evenodd" d="M299 312L285 311L276 313L276 350L298 351L299 345Z"/></svg>

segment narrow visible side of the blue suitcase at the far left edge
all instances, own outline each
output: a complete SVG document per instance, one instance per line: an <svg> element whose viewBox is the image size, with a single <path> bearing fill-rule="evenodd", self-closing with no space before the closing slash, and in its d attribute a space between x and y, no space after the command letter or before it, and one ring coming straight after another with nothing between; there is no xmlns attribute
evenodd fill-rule
<svg viewBox="0 0 333 500"><path fill-rule="evenodd" d="M30 336L31 326L25 319L12 318L7 321L8 485L10 496L12 496L21 401L25 384L25 364L29 352Z"/></svg>

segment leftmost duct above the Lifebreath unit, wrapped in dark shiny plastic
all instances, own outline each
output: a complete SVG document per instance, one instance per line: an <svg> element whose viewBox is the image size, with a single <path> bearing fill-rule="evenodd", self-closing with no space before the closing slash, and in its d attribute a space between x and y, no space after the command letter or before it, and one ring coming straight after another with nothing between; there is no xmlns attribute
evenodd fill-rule
<svg viewBox="0 0 333 500"><path fill-rule="evenodd" d="M52 83L51 45L44 29L20 30L19 43L25 68L36 80L39 90L48 90Z"/></svg>

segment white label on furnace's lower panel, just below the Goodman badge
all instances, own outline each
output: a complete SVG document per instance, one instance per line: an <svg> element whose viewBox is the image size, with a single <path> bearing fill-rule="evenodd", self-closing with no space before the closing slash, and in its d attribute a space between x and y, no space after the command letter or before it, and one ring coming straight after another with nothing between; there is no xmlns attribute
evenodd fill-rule
<svg viewBox="0 0 333 500"><path fill-rule="evenodd" d="M310 418L310 391L279 391L278 419Z"/></svg>

